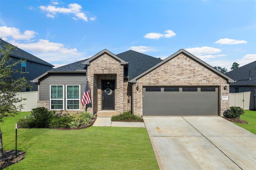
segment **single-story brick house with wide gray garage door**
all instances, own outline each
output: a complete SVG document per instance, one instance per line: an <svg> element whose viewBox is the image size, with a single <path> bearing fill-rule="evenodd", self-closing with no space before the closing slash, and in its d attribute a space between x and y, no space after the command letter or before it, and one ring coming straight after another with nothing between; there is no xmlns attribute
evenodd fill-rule
<svg viewBox="0 0 256 170"><path fill-rule="evenodd" d="M87 80L92 103L83 107ZM38 83L37 106L60 114L131 110L140 116L213 116L229 108L229 83L234 80L183 49L164 60L105 49L33 82Z"/></svg>

